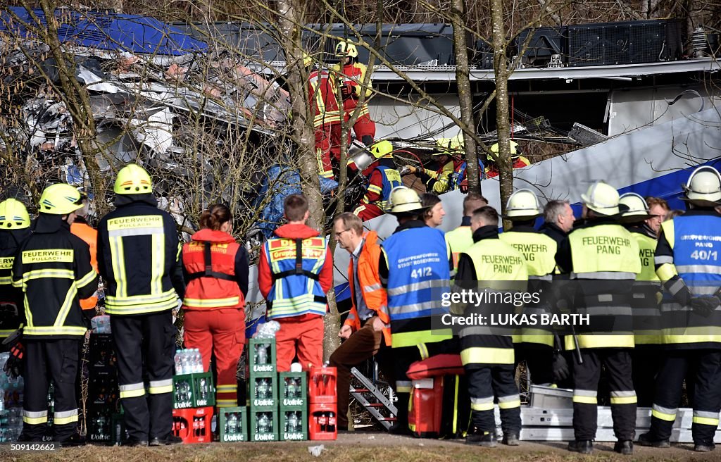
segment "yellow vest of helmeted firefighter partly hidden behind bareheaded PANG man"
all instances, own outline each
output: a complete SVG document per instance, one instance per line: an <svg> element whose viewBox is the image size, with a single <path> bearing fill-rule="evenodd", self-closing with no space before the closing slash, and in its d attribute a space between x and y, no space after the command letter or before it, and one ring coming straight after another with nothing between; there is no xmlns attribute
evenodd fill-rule
<svg viewBox="0 0 721 462"><path fill-rule="evenodd" d="M532 226L513 226L510 231L500 234L499 239L521 252L528 269L528 292L541 293L541 303L526 303L523 314L551 314L546 294L551 288L553 272L556 268L556 241L539 233ZM538 343L553 347L553 334L548 329L521 329L523 343Z"/></svg>

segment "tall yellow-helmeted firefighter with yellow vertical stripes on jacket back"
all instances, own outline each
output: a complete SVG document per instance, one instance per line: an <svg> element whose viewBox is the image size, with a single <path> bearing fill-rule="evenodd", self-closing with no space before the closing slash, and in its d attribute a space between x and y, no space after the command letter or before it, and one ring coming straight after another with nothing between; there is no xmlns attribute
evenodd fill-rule
<svg viewBox="0 0 721 462"><path fill-rule="evenodd" d="M97 227L97 263L105 280L105 311L118 356L127 444L182 443L171 432L172 310L185 294L177 225L158 209L151 177L143 167L128 164L120 169L113 191L115 210Z"/></svg>

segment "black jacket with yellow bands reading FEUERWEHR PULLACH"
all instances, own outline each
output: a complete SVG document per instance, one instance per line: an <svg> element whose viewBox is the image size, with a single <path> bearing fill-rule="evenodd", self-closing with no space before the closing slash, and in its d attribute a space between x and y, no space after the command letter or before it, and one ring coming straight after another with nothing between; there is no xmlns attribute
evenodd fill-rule
<svg viewBox="0 0 721 462"><path fill-rule="evenodd" d="M97 290L90 250L60 216L40 213L20 246L12 285L25 293L23 335L32 339L77 339L87 332L79 298Z"/></svg>

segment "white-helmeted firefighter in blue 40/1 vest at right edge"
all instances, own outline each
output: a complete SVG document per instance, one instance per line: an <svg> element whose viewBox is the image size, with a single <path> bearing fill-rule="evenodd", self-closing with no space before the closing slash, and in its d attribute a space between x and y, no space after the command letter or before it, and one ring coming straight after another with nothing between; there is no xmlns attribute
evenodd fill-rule
<svg viewBox="0 0 721 462"><path fill-rule="evenodd" d="M713 166L694 170L684 185L686 213L664 221L655 249L666 350L656 377L651 427L639 444L668 448L686 370L695 376L694 450L715 448L721 402L721 174ZM681 319L678 313L684 313ZM676 316L674 316L676 315ZM678 334L681 331L681 334Z"/></svg>

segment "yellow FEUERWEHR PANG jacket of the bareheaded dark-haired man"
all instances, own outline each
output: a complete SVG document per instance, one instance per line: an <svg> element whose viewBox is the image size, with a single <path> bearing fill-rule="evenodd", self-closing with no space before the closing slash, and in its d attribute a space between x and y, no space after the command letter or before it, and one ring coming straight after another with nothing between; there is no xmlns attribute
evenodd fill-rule
<svg viewBox="0 0 721 462"><path fill-rule="evenodd" d="M496 226L482 226L473 234L474 244L461 253L456 284L476 292L490 288L501 292L524 291L528 281L528 270L523 254L510 244L498 239ZM471 285L466 286L466 284ZM498 303L476 303L464 308L464 314L478 314L488 317L489 311L497 310ZM513 306L505 306L510 311ZM512 329L508 334L499 334L500 329L483 326L461 329L461 362L464 365L513 364Z"/></svg>

